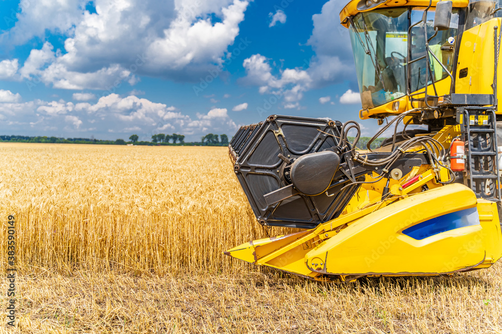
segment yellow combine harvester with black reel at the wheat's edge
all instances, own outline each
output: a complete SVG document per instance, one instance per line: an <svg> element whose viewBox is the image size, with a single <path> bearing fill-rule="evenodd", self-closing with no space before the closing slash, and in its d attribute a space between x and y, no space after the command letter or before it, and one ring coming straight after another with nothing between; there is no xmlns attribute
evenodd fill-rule
<svg viewBox="0 0 502 334"><path fill-rule="evenodd" d="M306 230L225 254L339 281L452 274L496 262L501 5L351 1L340 20L350 31L359 118L379 120L373 139L394 135L358 151L354 121L272 115L239 129L230 157L258 222Z"/></svg>

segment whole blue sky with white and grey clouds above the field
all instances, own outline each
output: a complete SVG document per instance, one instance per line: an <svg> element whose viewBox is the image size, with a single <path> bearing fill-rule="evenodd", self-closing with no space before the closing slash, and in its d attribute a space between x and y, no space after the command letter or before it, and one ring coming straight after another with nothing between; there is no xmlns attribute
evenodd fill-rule
<svg viewBox="0 0 502 334"><path fill-rule="evenodd" d="M0 135L198 141L273 114L358 120L344 5L0 0Z"/></svg>

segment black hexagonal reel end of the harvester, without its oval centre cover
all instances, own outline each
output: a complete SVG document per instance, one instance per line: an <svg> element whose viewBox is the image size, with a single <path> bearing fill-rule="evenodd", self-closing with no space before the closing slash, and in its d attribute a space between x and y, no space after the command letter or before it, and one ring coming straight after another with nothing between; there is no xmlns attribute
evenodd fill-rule
<svg viewBox="0 0 502 334"><path fill-rule="evenodd" d="M251 131L237 132L241 139L229 145L234 171L262 225L313 228L345 207L357 186L336 198L297 194L268 205L264 197L291 184L288 168L295 159L336 146L340 128L329 120L273 115Z"/></svg>

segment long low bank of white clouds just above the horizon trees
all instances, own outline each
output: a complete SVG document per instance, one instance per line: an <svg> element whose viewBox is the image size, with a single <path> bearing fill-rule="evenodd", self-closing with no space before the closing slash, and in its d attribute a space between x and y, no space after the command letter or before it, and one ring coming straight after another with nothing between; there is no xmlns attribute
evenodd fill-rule
<svg viewBox="0 0 502 334"><path fill-rule="evenodd" d="M9 91L0 93L9 97L15 95ZM17 100L10 98L9 101ZM101 134L103 139L110 133L131 132L150 139L152 134L169 131L184 134L187 140L199 140L201 135L209 132L231 135L237 129L235 122L228 117L227 109L214 108L192 118L175 106L117 94L103 96L94 103L76 104L64 100L24 103L2 100L0 127L6 125L12 131L20 129L27 135L66 134L67 137L76 137L75 132L92 131L93 135ZM29 128L33 129L31 134L27 131Z"/></svg>

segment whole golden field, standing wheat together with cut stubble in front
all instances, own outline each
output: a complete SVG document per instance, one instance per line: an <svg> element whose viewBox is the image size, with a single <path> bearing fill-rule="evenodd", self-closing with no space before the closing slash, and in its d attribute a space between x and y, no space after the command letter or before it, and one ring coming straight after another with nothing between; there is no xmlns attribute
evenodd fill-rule
<svg viewBox="0 0 502 334"><path fill-rule="evenodd" d="M0 162L0 251L14 214L20 273L0 332L502 332L500 263L326 284L222 255L265 236L225 148L0 144Z"/></svg>

